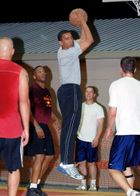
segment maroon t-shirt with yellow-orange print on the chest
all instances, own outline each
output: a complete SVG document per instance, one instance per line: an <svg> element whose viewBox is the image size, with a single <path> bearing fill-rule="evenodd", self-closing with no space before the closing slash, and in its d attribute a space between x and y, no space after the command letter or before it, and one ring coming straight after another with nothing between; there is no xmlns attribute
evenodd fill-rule
<svg viewBox="0 0 140 196"><path fill-rule="evenodd" d="M38 123L48 124L51 118L52 99L47 88L33 84L30 88L30 102L33 116Z"/></svg>

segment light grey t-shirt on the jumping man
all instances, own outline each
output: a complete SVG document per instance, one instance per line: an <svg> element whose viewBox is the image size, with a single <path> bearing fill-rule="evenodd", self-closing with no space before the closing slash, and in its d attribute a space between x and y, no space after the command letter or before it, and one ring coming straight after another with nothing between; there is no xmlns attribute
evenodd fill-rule
<svg viewBox="0 0 140 196"><path fill-rule="evenodd" d="M79 55L82 53L78 42L68 49L59 48L57 53L61 84L81 83Z"/></svg>

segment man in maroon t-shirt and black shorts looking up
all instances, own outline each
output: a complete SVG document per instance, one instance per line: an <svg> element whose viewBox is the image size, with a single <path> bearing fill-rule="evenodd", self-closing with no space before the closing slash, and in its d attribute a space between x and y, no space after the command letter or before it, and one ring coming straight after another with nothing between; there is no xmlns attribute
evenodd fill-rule
<svg viewBox="0 0 140 196"><path fill-rule="evenodd" d="M46 71L43 66L33 70L34 84L30 88L31 126L26 155L34 156L27 196L46 195L40 181L54 157L54 144L48 123L52 116L52 99L46 88Z"/></svg>

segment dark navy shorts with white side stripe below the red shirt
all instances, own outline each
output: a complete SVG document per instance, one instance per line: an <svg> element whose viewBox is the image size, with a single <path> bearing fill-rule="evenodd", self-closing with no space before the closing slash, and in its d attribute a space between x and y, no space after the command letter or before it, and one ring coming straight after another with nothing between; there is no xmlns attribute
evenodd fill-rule
<svg viewBox="0 0 140 196"><path fill-rule="evenodd" d="M23 167L23 147L21 138L0 138L0 158L9 172Z"/></svg>

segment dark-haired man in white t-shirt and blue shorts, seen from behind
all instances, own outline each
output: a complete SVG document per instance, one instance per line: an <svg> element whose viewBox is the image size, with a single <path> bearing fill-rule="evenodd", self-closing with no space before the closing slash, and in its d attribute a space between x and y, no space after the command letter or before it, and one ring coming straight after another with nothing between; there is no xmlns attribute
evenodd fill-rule
<svg viewBox="0 0 140 196"><path fill-rule="evenodd" d="M140 160L140 82L134 78L135 58L124 57L120 64L122 78L114 81L109 88L107 140L116 123L109 173L127 196L138 196L140 193L133 190L132 167L137 166Z"/></svg>

